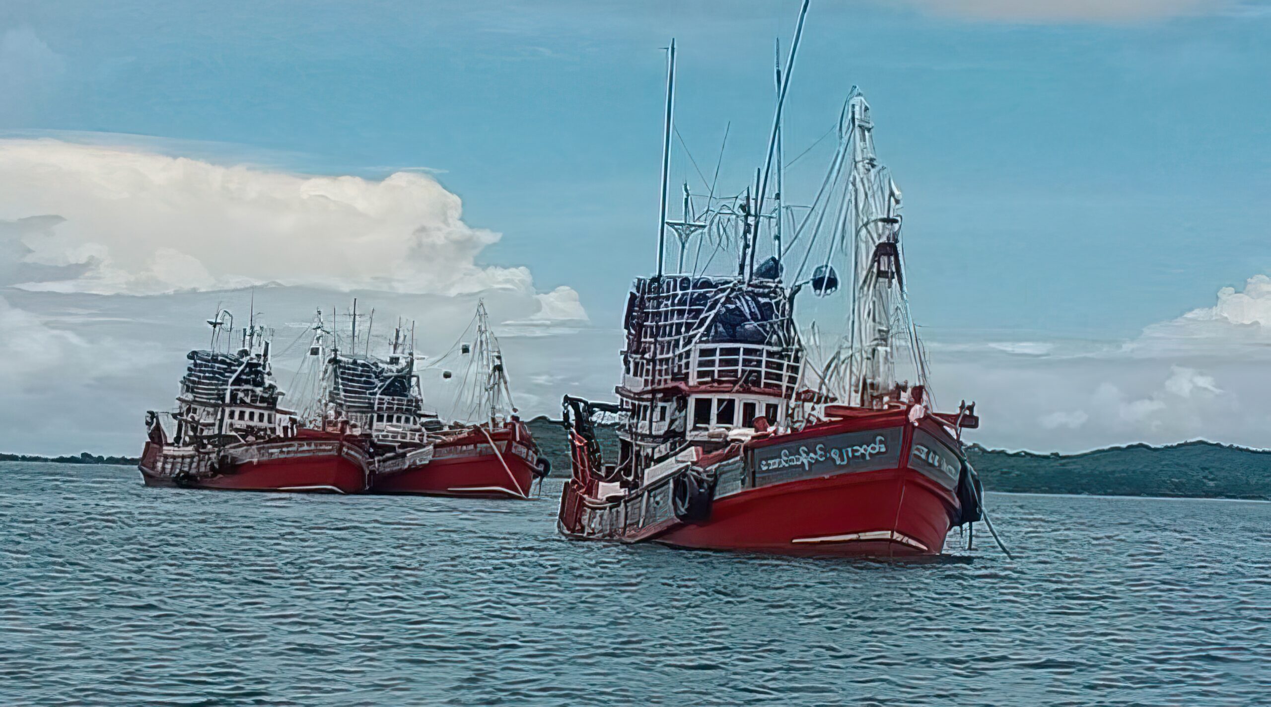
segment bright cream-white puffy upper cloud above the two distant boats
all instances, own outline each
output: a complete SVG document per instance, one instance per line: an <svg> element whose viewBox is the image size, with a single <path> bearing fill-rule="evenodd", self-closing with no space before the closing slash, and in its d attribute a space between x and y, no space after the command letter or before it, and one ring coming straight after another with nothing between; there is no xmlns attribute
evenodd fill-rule
<svg viewBox="0 0 1271 707"><path fill-rule="evenodd" d="M278 282L535 295L526 268L477 263L500 235L466 225L459 197L417 172L315 177L0 140L0 216L41 214L62 223L23 233L22 263L79 271L18 284L28 290L150 295ZM585 319L568 287L539 296L540 315Z"/></svg>

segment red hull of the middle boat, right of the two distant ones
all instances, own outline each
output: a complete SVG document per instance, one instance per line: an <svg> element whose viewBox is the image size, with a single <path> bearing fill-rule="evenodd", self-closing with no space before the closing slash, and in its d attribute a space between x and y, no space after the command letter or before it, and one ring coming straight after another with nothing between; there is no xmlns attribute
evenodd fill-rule
<svg viewBox="0 0 1271 707"><path fill-rule="evenodd" d="M520 425L520 423L516 423ZM491 441L498 449L491 446ZM524 426L479 430L433 446L432 460L393 474L377 474L374 493L419 493L477 498L527 498L536 454Z"/></svg>

